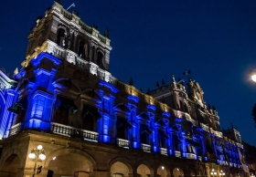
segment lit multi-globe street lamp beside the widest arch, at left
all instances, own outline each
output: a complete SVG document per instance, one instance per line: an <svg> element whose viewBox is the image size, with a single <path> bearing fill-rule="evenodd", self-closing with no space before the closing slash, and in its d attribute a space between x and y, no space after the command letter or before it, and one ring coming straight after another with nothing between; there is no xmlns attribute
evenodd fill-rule
<svg viewBox="0 0 256 177"><path fill-rule="evenodd" d="M42 160L44 161L46 159L46 155L43 149L42 145L38 145L37 148L34 148L29 154L28 154L29 159L35 159L35 166L34 166L34 172L33 172L33 177L35 176L36 173L36 167L37 167L37 160ZM42 166L39 166L38 169L41 169ZM38 174L39 172L37 172Z"/></svg>

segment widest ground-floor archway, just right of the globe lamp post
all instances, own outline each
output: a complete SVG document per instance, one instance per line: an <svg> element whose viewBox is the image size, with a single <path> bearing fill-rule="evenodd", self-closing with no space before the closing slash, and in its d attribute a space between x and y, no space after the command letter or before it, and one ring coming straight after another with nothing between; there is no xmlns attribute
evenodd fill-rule
<svg viewBox="0 0 256 177"><path fill-rule="evenodd" d="M64 153L48 162L48 170L52 171L54 176L82 174L83 177L87 177L89 172L93 171L93 166L91 161L78 153Z"/></svg>

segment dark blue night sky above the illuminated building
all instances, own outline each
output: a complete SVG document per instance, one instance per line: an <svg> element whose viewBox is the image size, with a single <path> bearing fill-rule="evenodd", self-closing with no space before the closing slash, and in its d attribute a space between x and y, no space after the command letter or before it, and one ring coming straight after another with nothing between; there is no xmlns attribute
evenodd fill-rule
<svg viewBox="0 0 256 177"><path fill-rule="evenodd" d="M171 75L192 76L214 105L224 129L233 122L244 141L256 145L251 109L256 83L256 1L241 0L62 0L89 26L109 28L110 71L136 88L155 89ZM9 73L25 59L27 35L52 0L0 0L0 68ZM72 9L70 9L71 11Z"/></svg>

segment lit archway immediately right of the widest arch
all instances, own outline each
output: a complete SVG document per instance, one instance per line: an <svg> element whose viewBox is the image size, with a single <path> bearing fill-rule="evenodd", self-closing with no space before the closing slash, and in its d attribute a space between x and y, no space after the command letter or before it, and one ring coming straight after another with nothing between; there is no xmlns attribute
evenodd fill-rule
<svg viewBox="0 0 256 177"><path fill-rule="evenodd" d="M112 177L128 177L129 168L121 161L116 161L111 167Z"/></svg>

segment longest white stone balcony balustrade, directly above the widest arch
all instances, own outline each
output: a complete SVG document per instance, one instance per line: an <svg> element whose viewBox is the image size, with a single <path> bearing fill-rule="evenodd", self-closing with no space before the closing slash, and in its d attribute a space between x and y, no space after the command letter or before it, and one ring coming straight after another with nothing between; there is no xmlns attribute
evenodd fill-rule
<svg viewBox="0 0 256 177"><path fill-rule="evenodd" d="M80 130L59 123L51 124L51 132L68 136L71 138L81 138L85 141L98 141L99 133L90 130Z"/></svg>

